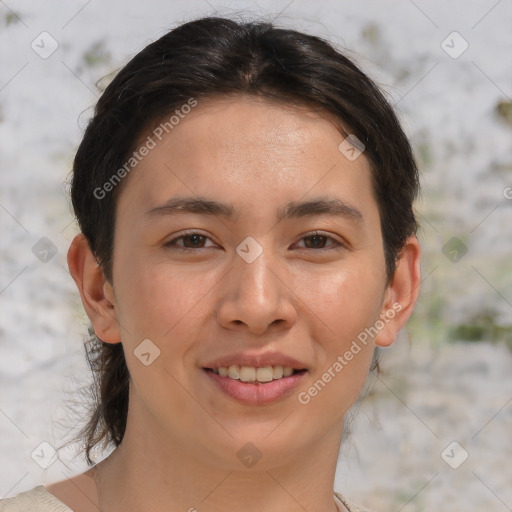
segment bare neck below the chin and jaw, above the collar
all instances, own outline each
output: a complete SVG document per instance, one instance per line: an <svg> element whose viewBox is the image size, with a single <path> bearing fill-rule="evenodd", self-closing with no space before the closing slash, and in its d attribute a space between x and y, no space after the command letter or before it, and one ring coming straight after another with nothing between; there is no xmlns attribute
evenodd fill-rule
<svg viewBox="0 0 512 512"><path fill-rule="evenodd" d="M265 466L262 459L241 471L217 456L196 457L169 442L154 424L132 421L134 416L141 418L128 415L123 442L92 471L104 512L338 511L333 496L338 422L315 446L287 454L286 462Z"/></svg>

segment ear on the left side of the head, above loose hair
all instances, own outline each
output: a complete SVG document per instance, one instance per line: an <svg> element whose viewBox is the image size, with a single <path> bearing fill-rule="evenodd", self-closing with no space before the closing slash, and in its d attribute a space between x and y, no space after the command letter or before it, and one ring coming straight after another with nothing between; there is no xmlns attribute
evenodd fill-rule
<svg viewBox="0 0 512 512"><path fill-rule="evenodd" d="M71 242L68 266L96 336L105 343L119 343L121 331L117 320L114 289L96 262L82 233Z"/></svg>

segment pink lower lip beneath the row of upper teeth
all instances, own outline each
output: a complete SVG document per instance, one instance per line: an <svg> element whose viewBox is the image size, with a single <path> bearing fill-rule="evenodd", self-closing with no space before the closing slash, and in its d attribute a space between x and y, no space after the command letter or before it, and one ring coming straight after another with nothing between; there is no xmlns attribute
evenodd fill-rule
<svg viewBox="0 0 512 512"><path fill-rule="evenodd" d="M271 382L257 384L221 377L217 373L203 369L210 379L224 392L247 405L263 405L275 402L289 395L304 378L307 371L294 373Z"/></svg>

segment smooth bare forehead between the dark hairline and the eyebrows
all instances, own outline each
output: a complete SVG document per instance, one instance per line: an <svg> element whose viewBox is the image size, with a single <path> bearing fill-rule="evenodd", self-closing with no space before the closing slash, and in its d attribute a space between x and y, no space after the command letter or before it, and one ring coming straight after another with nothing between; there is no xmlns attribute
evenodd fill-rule
<svg viewBox="0 0 512 512"><path fill-rule="evenodd" d="M213 193L263 209L337 191L356 202L372 200L366 158L350 161L340 152L345 135L322 111L249 96L208 99L176 116L158 140L155 128L168 119L141 137L156 145L137 164L120 202L148 209L173 195Z"/></svg>

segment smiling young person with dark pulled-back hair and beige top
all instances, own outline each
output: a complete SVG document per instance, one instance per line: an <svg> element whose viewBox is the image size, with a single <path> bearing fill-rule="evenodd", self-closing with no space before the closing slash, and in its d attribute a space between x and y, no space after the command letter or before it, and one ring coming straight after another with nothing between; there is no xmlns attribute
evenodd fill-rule
<svg viewBox="0 0 512 512"><path fill-rule="evenodd" d="M0 510L356 511L346 412L420 283L418 174L329 43L203 18L144 48L73 167L68 253L94 336L87 472Z"/></svg>

